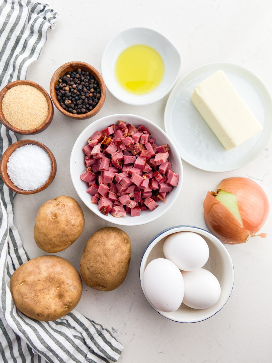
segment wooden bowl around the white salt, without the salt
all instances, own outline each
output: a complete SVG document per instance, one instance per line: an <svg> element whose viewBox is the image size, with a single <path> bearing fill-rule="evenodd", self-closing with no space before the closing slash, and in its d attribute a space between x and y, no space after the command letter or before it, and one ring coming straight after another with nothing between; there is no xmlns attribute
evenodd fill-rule
<svg viewBox="0 0 272 363"><path fill-rule="evenodd" d="M47 154L50 158L50 161L51 161L51 172L50 172L48 180L40 188L33 189L33 190L24 190L24 189L20 189L20 188L16 187L16 185L12 183L11 179L9 179L9 176L7 173L7 162L8 162L9 156L11 156L13 151L15 151L18 147L28 145L28 144L37 145L37 146L40 146L41 148L43 148L47 152ZM3 181L7 185L7 187L9 187L9 189L11 189L11 190L13 190L13 192L16 192L19 194L34 194L34 193L41 192L42 190L47 188L52 183L52 181L55 178L56 172L57 172L57 163L56 163L56 159L55 159L53 153L49 150L49 148L47 146L45 146L41 142L38 142L35 140L20 140L20 141L13 143L4 152L4 154L1 158L1 161L0 161L1 178L3 179Z"/></svg>

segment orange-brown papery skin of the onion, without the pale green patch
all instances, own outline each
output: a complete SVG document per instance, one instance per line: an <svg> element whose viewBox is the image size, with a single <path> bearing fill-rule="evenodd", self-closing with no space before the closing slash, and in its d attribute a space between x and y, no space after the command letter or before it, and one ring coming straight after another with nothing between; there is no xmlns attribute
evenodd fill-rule
<svg viewBox="0 0 272 363"><path fill-rule="evenodd" d="M216 199L220 191L237 196L237 205L242 221ZM269 212L269 201L264 190L255 181L243 178L227 178L219 183L216 192L208 192L203 203L207 227L223 243L244 243L265 223ZM258 234L264 238L265 233Z"/></svg>

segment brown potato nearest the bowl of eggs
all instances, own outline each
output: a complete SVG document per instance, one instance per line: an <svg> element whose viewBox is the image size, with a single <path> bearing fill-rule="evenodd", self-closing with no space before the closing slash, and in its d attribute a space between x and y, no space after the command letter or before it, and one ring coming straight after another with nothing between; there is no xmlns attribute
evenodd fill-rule
<svg viewBox="0 0 272 363"><path fill-rule="evenodd" d="M127 276L131 241L124 231L104 227L88 239L80 261L80 273L86 285L99 291L116 289Z"/></svg>

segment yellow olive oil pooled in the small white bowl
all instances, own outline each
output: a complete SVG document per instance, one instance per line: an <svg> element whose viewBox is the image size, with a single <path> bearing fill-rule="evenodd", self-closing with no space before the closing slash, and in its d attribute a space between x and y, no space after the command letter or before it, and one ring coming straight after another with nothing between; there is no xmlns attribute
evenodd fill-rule
<svg viewBox="0 0 272 363"><path fill-rule="evenodd" d="M164 77L160 54L147 45L125 49L115 65L115 77L123 89L134 94L153 91Z"/></svg>

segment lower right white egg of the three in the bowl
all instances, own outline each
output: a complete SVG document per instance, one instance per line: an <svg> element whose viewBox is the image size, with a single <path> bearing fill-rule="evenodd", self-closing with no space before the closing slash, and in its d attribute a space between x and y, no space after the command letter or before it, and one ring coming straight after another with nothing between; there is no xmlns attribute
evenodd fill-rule
<svg viewBox="0 0 272 363"><path fill-rule="evenodd" d="M182 271L184 280L183 303L194 309L206 309L214 305L221 294L217 278L210 271L198 269Z"/></svg>

